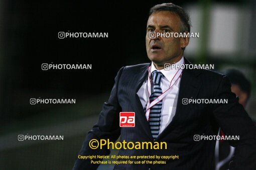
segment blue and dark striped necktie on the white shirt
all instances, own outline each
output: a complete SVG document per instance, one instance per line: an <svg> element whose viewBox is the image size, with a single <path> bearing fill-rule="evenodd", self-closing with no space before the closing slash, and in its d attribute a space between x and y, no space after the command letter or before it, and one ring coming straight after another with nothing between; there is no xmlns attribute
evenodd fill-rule
<svg viewBox="0 0 256 170"><path fill-rule="evenodd" d="M160 87L161 78L164 76L163 73L155 70L152 72L152 75L153 75L154 86L153 86L153 91L149 97L150 102L152 102L160 94L163 93ZM161 108L162 108L162 100L150 108L149 123L150 123L150 130L154 139L156 139L157 136L159 135L160 122L161 122L161 119L160 119Z"/></svg>

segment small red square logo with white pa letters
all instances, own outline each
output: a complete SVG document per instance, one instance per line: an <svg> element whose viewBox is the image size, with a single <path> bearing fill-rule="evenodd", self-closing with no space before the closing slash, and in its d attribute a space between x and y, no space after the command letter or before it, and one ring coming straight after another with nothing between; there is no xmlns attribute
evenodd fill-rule
<svg viewBox="0 0 256 170"><path fill-rule="evenodd" d="M120 127L135 127L135 112L120 112Z"/></svg>

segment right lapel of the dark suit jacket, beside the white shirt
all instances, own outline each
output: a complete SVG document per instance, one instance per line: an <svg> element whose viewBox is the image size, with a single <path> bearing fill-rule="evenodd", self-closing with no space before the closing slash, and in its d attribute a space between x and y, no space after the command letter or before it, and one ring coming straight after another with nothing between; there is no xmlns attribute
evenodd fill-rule
<svg viewBox="0 0 256 170"><path fill-rule="evenodd" d="M185 57L184 59L185 64L191 64L191 62L189 62ZM196 98L202 84L201 80L197 77L200 72L200 69L183 69L175 115L170 124L162 131L162 133L159 134L156 139L165 136L172 130L177 122L181 122L182 119L186 117L186 113L189 112L189 110L186 109L188 107L183 107L182 98Z"/></svg>

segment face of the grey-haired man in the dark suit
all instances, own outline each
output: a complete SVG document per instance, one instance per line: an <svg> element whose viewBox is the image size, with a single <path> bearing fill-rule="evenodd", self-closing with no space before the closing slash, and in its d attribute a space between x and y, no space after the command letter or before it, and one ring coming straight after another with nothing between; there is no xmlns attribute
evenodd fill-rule
<svg viewBox="0 0 256 170"><path fill-rule="evenodd" d="M180 32L180 17L170 11L158 11L149 16L147 23L146 48L148 57L158 65L171 63L175 58L183 55L182 47L185 38L182 37L156 37L150 38L150 32ZM188 43L188 42L187 42ZM177 62L177 61L176 61Z"/></svg>

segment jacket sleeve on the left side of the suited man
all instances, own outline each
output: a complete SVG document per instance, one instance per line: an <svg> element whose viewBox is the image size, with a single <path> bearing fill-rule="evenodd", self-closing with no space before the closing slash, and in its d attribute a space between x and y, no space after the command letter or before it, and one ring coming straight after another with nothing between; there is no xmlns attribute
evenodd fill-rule
<svg viewBox="0 0 256 170"><path fill-rule="evenodd" d="M119 112L121 111L121 107L118 103L117 88L122 71L123 67L120 68L115 77L115 83L111 90L110 97L108 102L104 102L97 123L93 125L92 129L86 135L82 148L77 154L77 160L75 161L73 170L96 169L99 166L97 163L91 163L91 159L79 159L78 155L107 155L110 153L110 149L106 147L102 147L101 149L90 148L89 142L91 139L97 139L98 141L100 141L100 139L116 141L120 135ZM96 143L94 143L94 145L96 145ZM92 160L97 161L102 159L96 158Z"/></svg>

